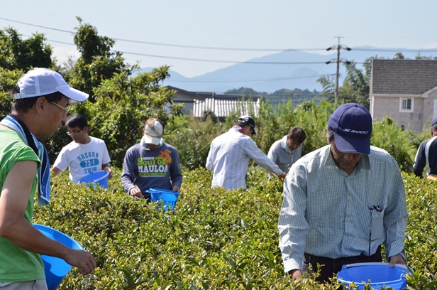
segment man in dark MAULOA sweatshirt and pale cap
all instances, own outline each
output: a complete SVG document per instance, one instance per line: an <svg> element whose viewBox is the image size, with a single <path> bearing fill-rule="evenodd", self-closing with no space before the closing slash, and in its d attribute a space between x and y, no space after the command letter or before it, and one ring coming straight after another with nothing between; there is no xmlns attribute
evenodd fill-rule
<svg viewBox="0 0 437 290"><path fill-rule="evenodd" d="M179 192L182 173L175 147L162 140L164 128L159 119L148 119L143 138L126 151L121 183L128 195L150 200L149 188Z"/></svg>

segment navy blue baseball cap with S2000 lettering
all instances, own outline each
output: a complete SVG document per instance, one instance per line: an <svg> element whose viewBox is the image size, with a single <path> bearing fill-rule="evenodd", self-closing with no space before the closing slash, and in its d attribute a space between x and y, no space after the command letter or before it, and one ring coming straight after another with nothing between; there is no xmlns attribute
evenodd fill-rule
<svg viewBox="0 0 437 290"><path fill-rule="evenodd" d="M338 151L343 153L370 154L372 116L360 104L342 104L328 119L334 131Z"/></svg>

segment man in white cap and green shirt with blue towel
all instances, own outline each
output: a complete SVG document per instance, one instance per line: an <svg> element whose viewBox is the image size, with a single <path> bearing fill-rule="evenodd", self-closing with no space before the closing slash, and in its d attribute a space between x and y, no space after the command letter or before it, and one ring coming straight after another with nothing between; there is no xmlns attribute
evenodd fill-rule
<svg viewBox="0 0 437 290"><path fill-rule="evenodd" d="M28 71L12 93L11 114L0 122L0 286L47 289L40 254L64 259L82 274L96 267L89 252L66 247L32 225L35 193L39 205L50 200L48 154L37 138L55 134L67 120L68 106L88 94L45 68Z"/></svg>

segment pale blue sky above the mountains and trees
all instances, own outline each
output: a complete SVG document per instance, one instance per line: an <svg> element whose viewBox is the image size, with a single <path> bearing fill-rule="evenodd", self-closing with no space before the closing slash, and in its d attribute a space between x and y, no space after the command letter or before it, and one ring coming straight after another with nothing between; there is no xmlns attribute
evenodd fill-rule
<svg viewBox="0 0 437 290"><path fill-rule="evenodd" d="M13 0L0 1L0 29L44 33L62 64L79 57L70 32L80 17L127 63L194 77L280 50L327 53L338 41L437 48L436 11L436 0Z"/></svg>

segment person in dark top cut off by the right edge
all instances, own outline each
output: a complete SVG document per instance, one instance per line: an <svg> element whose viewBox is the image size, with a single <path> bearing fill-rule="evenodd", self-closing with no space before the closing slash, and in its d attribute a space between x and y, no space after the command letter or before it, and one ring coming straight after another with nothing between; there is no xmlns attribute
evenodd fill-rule
<svg viewBox="0 0 437 290"><path fill-rule="evenodd" d="M430 139L423 141L416 153L414 161L414 174L422 177L426 166L426 178L431 181L437 181L437 117L431 121Z"/></svg>

